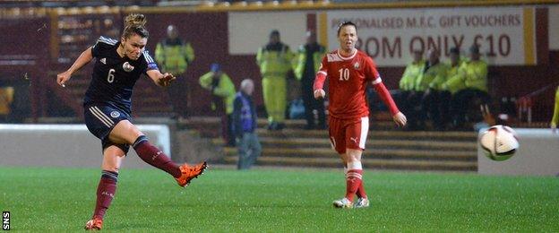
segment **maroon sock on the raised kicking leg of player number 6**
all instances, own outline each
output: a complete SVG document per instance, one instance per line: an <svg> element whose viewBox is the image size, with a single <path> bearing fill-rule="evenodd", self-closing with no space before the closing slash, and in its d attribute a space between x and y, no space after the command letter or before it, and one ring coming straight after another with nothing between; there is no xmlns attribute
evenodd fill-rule
<svg viewBox="0 0 559 233"><path fill-rule="evenodd" d="M173 177L181 177L182 173L178 165L170 160L163 151L151 145L146 136L138 137L136 142L133 143L133 149L143 161L151 166L162 169Z"/></svg>

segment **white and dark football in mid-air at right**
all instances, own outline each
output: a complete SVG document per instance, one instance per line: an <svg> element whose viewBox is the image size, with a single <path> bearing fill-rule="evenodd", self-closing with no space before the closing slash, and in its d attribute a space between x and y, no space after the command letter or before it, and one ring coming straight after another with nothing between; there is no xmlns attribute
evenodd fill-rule
<svg viewBox="0 0 559 233"><path fill-rule="evenodd" d="M479 144L490 160L508 160L519 148L518 136L506 125L495 125L479 136Z"/></svg>

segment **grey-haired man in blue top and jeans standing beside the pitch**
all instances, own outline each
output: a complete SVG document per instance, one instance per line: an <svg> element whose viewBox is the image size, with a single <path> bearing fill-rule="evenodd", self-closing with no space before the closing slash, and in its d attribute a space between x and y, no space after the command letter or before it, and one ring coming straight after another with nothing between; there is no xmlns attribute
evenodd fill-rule
<svg viewBox="0 0 559 233"><path fill-rule="evenodd" d="M235 95L233 110L233 128L236 135L239 160L238 169L248 169L253 166L262 152L262 145L256 134L256 109L252 98L254 82L245 79L241 82L241 91Z"/></svg>

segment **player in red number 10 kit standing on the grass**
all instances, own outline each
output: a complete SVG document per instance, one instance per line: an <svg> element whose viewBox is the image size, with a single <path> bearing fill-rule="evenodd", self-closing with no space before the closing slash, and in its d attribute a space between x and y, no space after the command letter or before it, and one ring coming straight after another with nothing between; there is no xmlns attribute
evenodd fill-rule
<svg viewBox="0 0 559 233"><path fill-rule="evenodd" d="M406 125L404 116L376 71L373 58L357 50L357 27L353 22L342 22L338 28L340 48L323 57L314 79L314 98L324 98L323 85L329 79L329 134L332 147L340 154L346 173L346 195L333 202L337 208L369 206L363 186L361 154L365 150L369 131L369 108L366 106L366 84L374 90L390 109L397 125ZM354 203L354 195L357 202Z"/></svg>

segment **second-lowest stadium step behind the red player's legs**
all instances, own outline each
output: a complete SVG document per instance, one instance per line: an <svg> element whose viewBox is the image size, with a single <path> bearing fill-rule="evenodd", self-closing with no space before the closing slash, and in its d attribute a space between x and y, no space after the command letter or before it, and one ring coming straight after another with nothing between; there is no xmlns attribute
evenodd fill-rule
<svg viewBox="0 0 559 233"><path fill-rule="evenodd" d="M236 156L234 147L224 147L226 155ZM366 149L363 155L367 158L405 159L405 160L477 160L475 151L416 151L406 149ZM327 148L262 148L262 157L286 158L331 158L337 156L336 151Z"/></svg>

